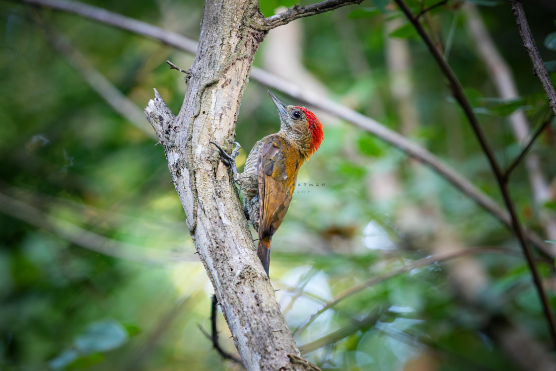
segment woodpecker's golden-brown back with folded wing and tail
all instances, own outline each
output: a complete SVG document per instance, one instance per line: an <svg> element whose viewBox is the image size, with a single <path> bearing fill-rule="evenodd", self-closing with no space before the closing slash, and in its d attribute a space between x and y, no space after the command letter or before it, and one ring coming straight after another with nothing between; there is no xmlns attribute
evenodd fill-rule
<svg viewBox="0 0 556 371"><path fill-rule="evenodd" d="M266 137L259 150L258 254L266 274L269 273L270 240L282 224L294 194L299 156L299 150L279 135Z"/></svg>

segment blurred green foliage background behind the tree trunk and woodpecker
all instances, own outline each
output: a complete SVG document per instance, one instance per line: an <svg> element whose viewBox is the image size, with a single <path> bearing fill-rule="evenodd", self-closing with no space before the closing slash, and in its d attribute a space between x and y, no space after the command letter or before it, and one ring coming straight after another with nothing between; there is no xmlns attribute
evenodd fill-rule
<svg viewBox="0 0 556 371"><path fill-rule="evenodd" d="M202 2L87 3L198 38ZM419 11L419 1L409 3ZM261 8L270 16L293 4L263 0ZM525 10L544 60L556 60L554 3L530 1ZM425 22L508 166L525 142L509 115L524 112L528 134L553 120L509 4L449 1ZM487 37L476 36L473 22ZM517 85L512 100L500 98L479 52L488 38ZM153 88L174 112L180 108L186 86L166 60L188 68L193 56L73 14L0 1L0 369L241 369L222 360L199 328L210 328L212 286L142 114ZM274 29L255 66L403 133L502 204L438 66L388 0ZM255 81L245 90L236 139L246 151L279 127L266 90ZM512 233L403 152L315 112L325 140L300 170L270 268L307 359L341 370L519 370L527 369L519 361L526 345L553 358ZM510 183L521 220L543 240L555 239L555 130L549 126L533 147L544 193L531 186L529 162ZM465 249L479 252L419 263ZM548 256L539 269L554 306ZM344 298L356 284L408 264L415 266ZM221 314L218 324L223 347L234 353ZM504 330L519 335L516 351Z"/></svg>

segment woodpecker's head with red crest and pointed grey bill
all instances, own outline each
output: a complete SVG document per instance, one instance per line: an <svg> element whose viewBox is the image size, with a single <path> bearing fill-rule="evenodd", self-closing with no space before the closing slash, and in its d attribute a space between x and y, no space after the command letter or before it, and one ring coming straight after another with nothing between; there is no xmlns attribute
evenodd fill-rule
<svg viewBox="0 0 556 371"><path fill-rule="evenodd" d="M307 155L314 154L324 139L319 119L305 107L286 106L270 90L269 95L280 113L280 131L286 132L294 141L307 141Z"/></svg>

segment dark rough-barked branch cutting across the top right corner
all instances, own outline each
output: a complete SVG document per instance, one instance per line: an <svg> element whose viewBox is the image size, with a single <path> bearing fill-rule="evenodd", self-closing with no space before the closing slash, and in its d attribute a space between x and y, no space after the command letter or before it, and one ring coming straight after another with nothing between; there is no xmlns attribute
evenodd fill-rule
<svg viewBox="0 0 556 371"><path fill-rule="evenodd" d="M556 115L556 91L554 91L554 86L552 85L552 81L550 81L550 76L548 76L547 67L544 66L543 58L540 57L537 43L535 43L535 39L529 28L529 23L527 22L527 17L525 17L525 11L523 9L523 3L520 0L511 0L510 2L512 3L512 12L514 13L515 22L518 25L519 34L523 39L523 47L527 50L529 58L531 58L535 73L543 84L544 92L547 94L548 103L550 107L552 107L554 115Z"/></svg>

